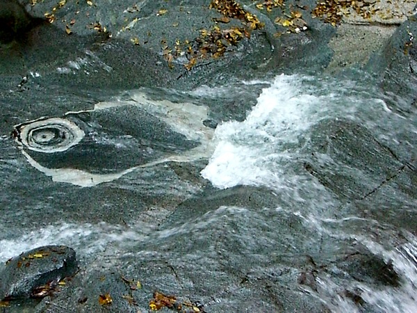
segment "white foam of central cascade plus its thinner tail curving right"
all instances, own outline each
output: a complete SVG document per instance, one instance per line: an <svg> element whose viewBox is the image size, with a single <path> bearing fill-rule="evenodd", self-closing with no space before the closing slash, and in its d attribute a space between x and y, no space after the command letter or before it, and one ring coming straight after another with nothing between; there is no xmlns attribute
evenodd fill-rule
<svg viewBox="0 0 417 313"><path fill-rule="evenodd" d="M388 114L381 99L352 81L282 74L263 88L243 122L217 127L215 151L202 176L218 188L239 184L281 188L286 184L283 179L289 179L288 163L302 157L309 129L320 120L368 119L374 127Z"/></svg>

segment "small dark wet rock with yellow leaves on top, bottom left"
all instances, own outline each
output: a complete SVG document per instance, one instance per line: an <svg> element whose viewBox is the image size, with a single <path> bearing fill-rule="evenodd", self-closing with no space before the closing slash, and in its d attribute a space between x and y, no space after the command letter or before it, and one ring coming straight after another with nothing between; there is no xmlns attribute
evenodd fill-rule
<svg viewBox="0 0 417 313"><path fill-rule="evenodd" d="M67 246L42 246L6 262L0 273L0 298L42 298L60 280L78 270L75 251Z"/></svg>

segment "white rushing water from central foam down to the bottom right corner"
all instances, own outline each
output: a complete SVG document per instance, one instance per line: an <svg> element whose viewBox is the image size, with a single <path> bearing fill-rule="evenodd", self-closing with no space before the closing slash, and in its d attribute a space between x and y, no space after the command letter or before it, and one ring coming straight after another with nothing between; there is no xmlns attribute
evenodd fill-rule
<svg viewBox="0 0 417 313"><path fill-rule="evenodd" d="M406 120L391 111L373 90L359 88L352 81L319 81L313 77L281 75L263 89L256 106L243 122L224 122L215 129L215 151L202 170L202 176L218 188L265 186L291 193L294 203L298 191L308 190L312 199L307 200L309 204L304 201L304 205L313 218L306 218L307 227L318 227L317 232L363 244L386 264L392 263L402 280L399 288L375 288L363 282L351 282L349 287L361 291L361 297L373 307L373 312L417 312L416 238L408 234L409 242L386 247L386 241L381 243L367 234L346 233L345 229L325 230L321 221L318 222L322 218L318 214L325 207L335 209L335 204L318 184L306 182L305 177L293 173L288 166L304 157L309 129L325 118L343 118L366 125L380 141L389 143L396 141L396 134L402 131L402 121ZM410 131L416 132L416 129L411 127ZM322 201L316 201L320 197ZM307 214L306 211L303 214ZM366 220L366 223L373 221ZM361 232L365 231L359 230ZM397 236L395 230L386 230L385 235L392 236L393 240ZM351 300L339 296L347 286L325 277L318 278L318 284L321 288L318 298L334 312L363 312Z"/></svg>

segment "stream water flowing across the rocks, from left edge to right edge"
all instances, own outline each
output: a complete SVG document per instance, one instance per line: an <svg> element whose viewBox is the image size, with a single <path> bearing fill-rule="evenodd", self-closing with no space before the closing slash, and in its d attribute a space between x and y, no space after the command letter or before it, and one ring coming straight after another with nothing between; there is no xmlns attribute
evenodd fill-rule
<svg viewBox="0 0 417 313"><path fill-rule="evenodd" d="M245 203L213 200L212 209L189 216L183 213L179 219L175 219L177 204L165 207L155 204L155 209L167 220L159 228L154 218L135 216L134 212L126 227L122 222L111 223L100 218L97 222L92 219L82 222L81 218L72 219L68 212L63 219L51 217L54 221L49 223L45 217L40 225L33 225L21 211L10 210L8 220L19 223L0 225L1 262L35 246L65 244L76 250L82 262L117 263L129 255L146 258L163 253L165 243L183 241L189 247L181 248L179 255L186 263L193 262L193 257L210 259L213 253L226 250L231 258L243 258L241 262L248 260L247 264L252 264L247 265L248 273L261 275L279 259L286 268L292 268L289 276L300 274L298 281L283 278L281 284L315 298L333 312L417 311L417 236L415 220L412 220L417 209L415 193L412 193L416 186L413 153L417 121L395 110L392 99L373 87L371 78L281 74L264 81L238 81L213 88L201 86L191 92L165 90L163 99L149 95L151 92L126 90L93 109L85 108L56 118L77 125L82 120L90 127L84 129L85 136L94 140L91 139L88 148L81 147L86 153L90 153L91 145L103 143L104 139L116 151L117 147L120 151L137 148L132 134L93 136L97 131L93 125L97 116L103 114L111 119L123 110L129 111L123 115L125 118L133 116L136 109L156 117L179 134L181 141L173 139L172 146L161 141L158 147L147 150L145 147L148 159L135 163L133 158L126 166L117 163L120 165L117 168L106 163L109 164L106 170L97 170L93 165L72 167L81 154L65 159L59 151L33 151L28 147L30 143L13 143L17 157L3 158L3 172L11 171L12 176L13 172L27 173L36 177L34 181L41 179L40 184L50 188L59 186L63 191L47 193L48 202L35 196L31 200L30 188L24 187L22 193L13 191L4 201L9 207L22 205L37 212L42 212L44 208L40 207L48 202L52 211L61 206L60 212L66 209L65 201L59 199L71 193L64 191L66 188L76 193L106 186L126 192L140 188L141 194L178 197L181 202L198 195L204 179L213 186L213 193L247 186L265 190L265 197L279 200L256 209ZM206 126L213 111L210 104L220 102L221 105L224 99L238 103L248 94L256 98L256 104L241 112L246 115L244 119L224 118L217 127ZM83 118L85 114L89 118ZM48 136L54 135L49 128L45 129L42 140L47 141L47 150ZM106 131L110 134L109 129ZM2 145L10 142L8 138L2 141ZM68 149L74 149L80 141ZM181 146L183 143L188 146ZM147 142L143 141L142 145L146 146ZM193 162L203 162L196 178L198 183L167 175L167 163ZM2 188L23 184L18 177L8 180L11 183ZM410 190L401 188L401 182L410 186ZM26 202L19 204L20 200L13 197L25 198ZM110 210L115 204L103 200L100 205L104 208L107 205ZM204 202L199 204L204 205ZM228 239L219 239L220 246L213 243L214 246L195 248L204 237L220 238L222 234ZM230 242L233 245L228 246ZM354 262L357 251L370 256L370 261L366 265L358 261L359 265L352 270L348 263ZM311 269L297 265L306 255L311 257ZM172 255L172 262L178 257ZM372 268L377 262L393 274L388 283L378 282L369 272L361 273L361 266Z"/></svg>

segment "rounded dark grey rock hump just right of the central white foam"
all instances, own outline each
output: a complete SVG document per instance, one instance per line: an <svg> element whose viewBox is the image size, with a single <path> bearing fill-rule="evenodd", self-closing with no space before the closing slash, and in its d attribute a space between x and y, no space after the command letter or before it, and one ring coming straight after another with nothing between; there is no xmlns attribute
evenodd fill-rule
<svg viewBox="0 0 417 313"><path fill-rule="evenodd" d="M366 198L403 166L366 127L348 120L318 123L311 143L311 159L304 168L346 198Z"/></svg>

